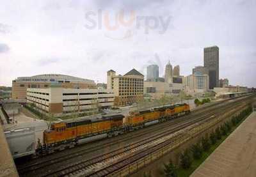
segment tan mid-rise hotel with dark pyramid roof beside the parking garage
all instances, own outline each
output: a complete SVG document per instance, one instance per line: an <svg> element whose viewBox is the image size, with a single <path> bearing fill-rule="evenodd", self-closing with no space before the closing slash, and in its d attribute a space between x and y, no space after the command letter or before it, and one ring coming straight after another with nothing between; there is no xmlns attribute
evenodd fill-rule
<svg viewBox="0 0 256 177"><path fill-rule="evenodd" d="M115 105L129 105L143 99L144 75L135 69L116 75L113 70L108 71L108 89L115 93Z"/></svg>

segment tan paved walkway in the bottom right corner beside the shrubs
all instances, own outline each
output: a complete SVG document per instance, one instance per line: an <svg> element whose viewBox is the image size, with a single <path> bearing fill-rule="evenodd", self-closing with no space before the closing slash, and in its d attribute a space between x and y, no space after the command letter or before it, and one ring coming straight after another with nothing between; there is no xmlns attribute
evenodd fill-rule
<svg viewBox="0 0 256 177"><path fill-rule="evenodd" d="M191 177L256 176L256 112L191 174Z"/></svg>

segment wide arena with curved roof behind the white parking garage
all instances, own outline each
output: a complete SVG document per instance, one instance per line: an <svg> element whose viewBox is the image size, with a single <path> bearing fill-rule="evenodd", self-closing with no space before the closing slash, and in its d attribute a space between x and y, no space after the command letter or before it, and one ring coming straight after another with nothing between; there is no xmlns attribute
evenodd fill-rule
<svg viewBox="0 0 256 177"><path fill-rule="evenodd" d="M95 82L89 79L62 74L43 74L18 77L12 81L12 98L26 99L27 88L48 88L52 83L60 83L63 88L96 88Z"/></svg>

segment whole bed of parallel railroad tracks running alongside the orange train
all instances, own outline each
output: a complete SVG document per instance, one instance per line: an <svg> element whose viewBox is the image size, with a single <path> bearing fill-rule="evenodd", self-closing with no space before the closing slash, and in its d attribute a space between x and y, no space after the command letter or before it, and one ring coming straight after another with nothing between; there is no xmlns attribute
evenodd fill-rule
<svg viewBox="0 0 256 177"><path fill-rule="evenodd" d="M125 176L211 127L236 114L251 102L243 96L197 109L191 114L102 139L16 162L20 176Z"/></svg>

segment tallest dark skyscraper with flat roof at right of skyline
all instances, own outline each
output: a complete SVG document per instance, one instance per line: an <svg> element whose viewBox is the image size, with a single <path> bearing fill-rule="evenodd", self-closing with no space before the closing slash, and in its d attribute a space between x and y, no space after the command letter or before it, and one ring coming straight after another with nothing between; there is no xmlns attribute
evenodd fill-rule
<svg viewBox="0 0 256 177"><path fill-rule="evenodd" d="M204 66L208 70L209 88L213 89L219 85L219 47L212 46L204 48Z"/></svg>

